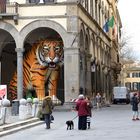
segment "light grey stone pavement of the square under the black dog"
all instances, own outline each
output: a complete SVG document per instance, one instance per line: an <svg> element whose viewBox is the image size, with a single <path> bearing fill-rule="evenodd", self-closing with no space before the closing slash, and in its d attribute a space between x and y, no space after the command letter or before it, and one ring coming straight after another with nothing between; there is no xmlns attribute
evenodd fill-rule
<svg viewBox="0 0 140 140"><path fill-rule="evenodd" d="M140 121L132 121L131 105L111 105L93 110L91 129L78 130L78 118L74 130L66 130L66 120L77 115L75 111L53 112L55 117L51 129L39 125L2 137L3 140L139 140Z"/></svg>

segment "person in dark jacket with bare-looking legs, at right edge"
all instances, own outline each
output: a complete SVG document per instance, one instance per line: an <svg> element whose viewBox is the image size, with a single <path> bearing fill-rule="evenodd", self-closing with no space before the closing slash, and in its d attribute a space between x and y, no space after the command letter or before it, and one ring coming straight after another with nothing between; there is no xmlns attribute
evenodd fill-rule
<svg viewBox="0 0 140 140"><path fill-rule="evenodd" d="M139 111L138 111L138 104L139 99L137 93L134 93L133 97L131 98L131 105L132 105L132 111L133 111L133 118L132 120L139 120Z"/></svg>

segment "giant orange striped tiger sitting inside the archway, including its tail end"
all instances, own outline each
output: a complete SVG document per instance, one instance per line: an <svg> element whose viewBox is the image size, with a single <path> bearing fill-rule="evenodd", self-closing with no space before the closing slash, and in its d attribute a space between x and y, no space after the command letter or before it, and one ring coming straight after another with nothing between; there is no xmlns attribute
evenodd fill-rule
<svg viewBox="0 0 140 140"><path fill-rule="evenodd" d="M58 40L44 40L34 44L23 58L23 93L35 89L37 98L45 96L45 84L49 96L56 96L60 66L63 59L63 43ZM17 73L9 85L11 100L17 99Z"/></svg>

